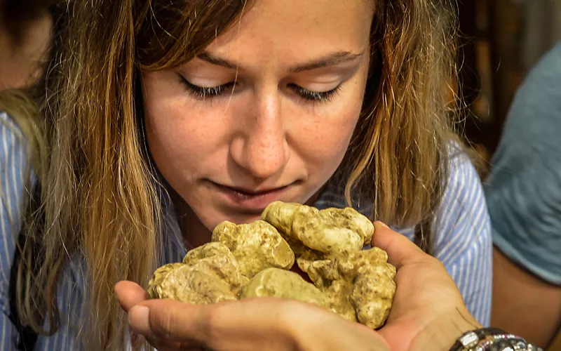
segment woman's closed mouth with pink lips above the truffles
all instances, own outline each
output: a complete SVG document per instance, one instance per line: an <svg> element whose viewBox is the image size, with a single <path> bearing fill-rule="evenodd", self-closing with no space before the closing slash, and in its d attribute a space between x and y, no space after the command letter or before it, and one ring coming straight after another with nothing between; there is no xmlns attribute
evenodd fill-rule
<svg viewBox="0 0 561 351"><path fill-rule="evenodd" d="M238 211L248 214L261 214L265 207L273 201L281 200L283 194L291 185L283 187L252 190L243 187L230 187L218 183L212 183L224 204Z"/></svg>

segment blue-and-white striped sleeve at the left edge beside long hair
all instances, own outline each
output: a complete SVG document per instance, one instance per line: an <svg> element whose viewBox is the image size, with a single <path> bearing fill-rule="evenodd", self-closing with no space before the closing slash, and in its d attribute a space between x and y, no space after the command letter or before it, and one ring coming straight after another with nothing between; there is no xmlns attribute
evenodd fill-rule
<svg viewBox="0 0 561 351"><path fill-rule="evenodd" d="M17 333L8 316L8 286L20 231L24 206L29 194L29 164L20 130L4 112L0 112L0 349L12 350Z"/></svg>

